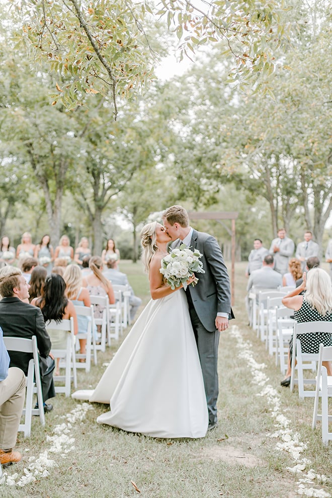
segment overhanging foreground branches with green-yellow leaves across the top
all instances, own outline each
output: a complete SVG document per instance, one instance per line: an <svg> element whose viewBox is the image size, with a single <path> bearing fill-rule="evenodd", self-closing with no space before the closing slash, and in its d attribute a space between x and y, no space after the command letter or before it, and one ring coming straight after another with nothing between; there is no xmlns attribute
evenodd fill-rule
<svg viewBox="0 0 332 498"><path fill-rule="evenodd" d="M16 39L23 39L34 58L71 77L68 84L56 86L54 99L73 109L82 105L86 93L111 91L115 118L117 95L128 97L146 85L153 60L163 53L150 35L157 18L174 27L181 56L222 41L222 50L235 60L231 77L247 80L254 75L262 85L273 73L290 26L287 9L277 0L162 0L157 7L147 0L15 0L14 5L22 20L16 20Z"/></svg>

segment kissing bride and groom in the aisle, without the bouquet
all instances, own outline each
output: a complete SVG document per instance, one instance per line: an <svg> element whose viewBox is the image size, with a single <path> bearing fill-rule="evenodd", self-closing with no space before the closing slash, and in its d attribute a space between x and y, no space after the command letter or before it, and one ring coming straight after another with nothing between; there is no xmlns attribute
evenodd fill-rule
<svg viewBox="0 0 332 498"><path fill-rule="evenodd" d="M120 346L94 391L76 399L109 403L97 418L129 432L158 438L201 438L217 426L217 356L220 333L233 318L227 268L216 239L189 224L182 206L162 214L163 225L141 231L142 263L151 300ZM197 249L204 272L172 289L161 261L172 248Z"/></svg>

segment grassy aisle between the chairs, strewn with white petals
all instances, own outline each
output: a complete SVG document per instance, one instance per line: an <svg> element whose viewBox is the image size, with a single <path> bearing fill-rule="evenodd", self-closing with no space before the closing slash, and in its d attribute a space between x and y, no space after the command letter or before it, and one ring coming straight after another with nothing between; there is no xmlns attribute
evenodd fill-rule
<svg viewBox="0 0 332 498"><path fill-rule="evenodd" d="M97 425L96 417L108 409L107 405L86 406L58 395L54 410L47 414L45 428L34 418L32 437L24 439L22 433L19 435L17 449L23 461L7 470L10 476L17 473L13 479L16 483L22 481L29 465L35 465L31 474L39 468L39 476L23 487L2 485L1 495L291 498L298 496L301 489L307 496L323 498L332 494L329 480L323 485L321 479L315 478L313 483L299 487L299 479L311 468L330 476L332 444L322 446L320 424L311 430L313 399L300 402L297 391L291 394L280 387L279 369L247 326L244 268L244 264L238 264L236 269L236 320L220 338L216 430L200 440L152 439L124 433ZM128 273L135 292L146 303L148 285L140 265L121 262L121 270ZM113 343L111 351L99 354L99 364L89 374L79 371L78 388L96 385L105 368L103 363L110 361L118 346ZM261 366L263 363L266 367ZM279 434L285 419L297 437L289 436L287 429ZM277 432L278 437L272 438ZM291 443L294 439L299 441L295 447ZM294 468L300 443L306 447L298 458L310 464L295 475L287 467ZM293 452L278 449L278 444ZM38 467L34 462L41 454ZM35 459L29 462L30 457ZM54 466L47 467L49 460L54 461ZM49 475L42 477L45 470Z"/></svg>

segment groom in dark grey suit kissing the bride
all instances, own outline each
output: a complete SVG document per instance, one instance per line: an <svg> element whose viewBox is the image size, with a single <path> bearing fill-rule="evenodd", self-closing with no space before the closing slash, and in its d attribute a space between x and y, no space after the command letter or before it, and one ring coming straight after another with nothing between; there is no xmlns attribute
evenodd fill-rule
<svg viewBox="0 0 332 498"><path fill-rule="evenodd" d="M190 318L200 357L209 411L209 429L217 427L218 344L219 333L234 318L230 307L230 285L227 268L216 239L189 226L189 216L182 206L171 206L162 214L163 225L172 238L172 247L182 242L203 255L205 273L198 284L186 290Z"/></svg>

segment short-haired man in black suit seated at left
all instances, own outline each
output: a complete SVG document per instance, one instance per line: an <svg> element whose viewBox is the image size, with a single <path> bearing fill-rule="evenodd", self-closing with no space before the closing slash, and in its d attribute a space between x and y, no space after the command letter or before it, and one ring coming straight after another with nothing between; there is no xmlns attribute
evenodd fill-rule
<svg viewBox="0 0 332 498"><path fill-rule="evenodd" d="M50 355L51 340L45 328L42 312L31 306L24 299L29 299L29 284L18 268L13 269L10 275L0 276L0 326L5 337L22 337L31 339L36 336L39 351L39 366L44 400L44 411L53 409L46 404L49 398L55 396L53 384L54 359ZM18 367L28 375L29 361L32 353L9 351L11 367Z"/></svg>

